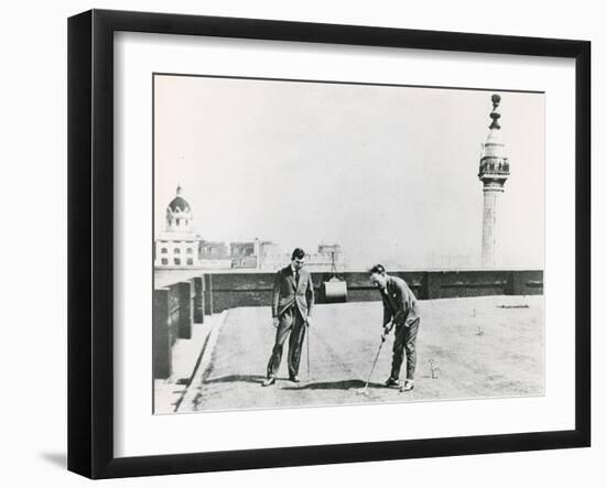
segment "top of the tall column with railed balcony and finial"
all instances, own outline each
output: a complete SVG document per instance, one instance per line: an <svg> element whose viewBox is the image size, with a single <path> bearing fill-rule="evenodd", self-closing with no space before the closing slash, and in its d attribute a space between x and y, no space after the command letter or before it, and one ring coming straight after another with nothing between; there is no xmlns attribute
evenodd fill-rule
<svg viewBox="0 0 606 488"><path fill-rule="evenodd" d="M493 111L489 126L490 132L486 142L481 145L478 177L484 182L485 187L500 189L509 176L509 160L507 158L505 143L501 141L501 127L499 124L500 113L497 111L501 97L493 95Z"/></svg>

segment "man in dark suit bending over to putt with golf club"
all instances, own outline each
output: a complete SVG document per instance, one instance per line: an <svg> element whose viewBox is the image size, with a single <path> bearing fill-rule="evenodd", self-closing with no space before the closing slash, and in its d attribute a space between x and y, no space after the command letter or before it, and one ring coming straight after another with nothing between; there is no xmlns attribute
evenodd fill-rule
<svg viewBox="0 0 606 488"><path fill-rule="evenodd" d="M383 301L383 334L382 339L396 326L393 340L393 358L391 375L386 387L400 387L400 368L407 354L407 378L400 391L410 391L414 388L414 369L416 366L416 334L421 317L416 306L416 299L407 282L398 276L387 274L382 264L370 270L370 281L381 292Z"/></svg>

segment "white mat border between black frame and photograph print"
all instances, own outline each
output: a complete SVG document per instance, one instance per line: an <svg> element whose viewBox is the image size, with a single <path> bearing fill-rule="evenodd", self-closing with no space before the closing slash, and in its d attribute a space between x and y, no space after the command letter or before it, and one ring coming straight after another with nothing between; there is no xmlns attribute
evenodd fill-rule
<svg viewBox="0 0 606 488"><path fill-rule="evenodd" d="M152 415L152 72L544 90L547 394ZM574 80L567 59L117 33L115 455L574 429Z"/></svg>

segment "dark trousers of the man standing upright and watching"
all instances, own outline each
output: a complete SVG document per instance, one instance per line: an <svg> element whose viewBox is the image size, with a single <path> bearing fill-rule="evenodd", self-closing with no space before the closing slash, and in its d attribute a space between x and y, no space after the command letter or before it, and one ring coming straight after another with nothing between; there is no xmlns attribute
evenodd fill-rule
<svg viewBox="0 0 606 488"><path fill-rule="evenodd" d="M305 321L296 305L291 306L280 316L278 330L275 332L275 344L268 362L268 378L274 378L280 369L282 360L282 349L290 333L289 339L289 377L295 377L299 373L299 364L301 362L301 349L303 338L305 337Z"/></svg>

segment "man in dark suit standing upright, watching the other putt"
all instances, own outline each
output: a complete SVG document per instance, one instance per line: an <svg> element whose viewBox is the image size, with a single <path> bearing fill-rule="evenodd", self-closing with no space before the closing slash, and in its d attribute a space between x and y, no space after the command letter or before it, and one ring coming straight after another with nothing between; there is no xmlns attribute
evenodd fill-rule
<svg viewBox="0 0 606 488"><path fill-rule="evenodd" d="M300 381L297 375L301 349L305 329L312 322L314 304L314 284L312 275L303 268L304 264L305 251L296 248L292 252L290 265L275 274L271 300L273 326L277 328L275 344L269 358L263 387L275 382L275 375L282 359L282 349L289 334L289 378L295 383Z"/></svg>

